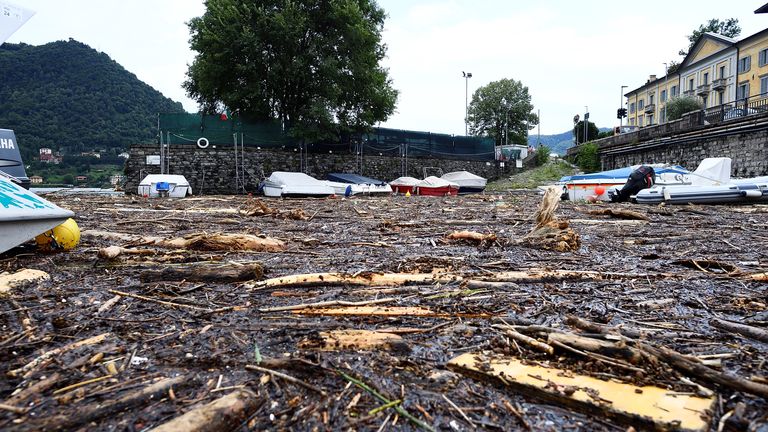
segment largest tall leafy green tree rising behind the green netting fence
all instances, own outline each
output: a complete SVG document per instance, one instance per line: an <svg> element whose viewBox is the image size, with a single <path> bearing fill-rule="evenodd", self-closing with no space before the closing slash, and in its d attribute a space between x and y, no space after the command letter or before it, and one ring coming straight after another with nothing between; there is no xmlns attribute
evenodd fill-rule
<svg viewBox="0 0 768 432"><path fill-rule="evenodd" d="M278 120L315 139L386 120L397 91L380 65L374 0L206 0L189 23L184 87L204 112Z"/></svg>

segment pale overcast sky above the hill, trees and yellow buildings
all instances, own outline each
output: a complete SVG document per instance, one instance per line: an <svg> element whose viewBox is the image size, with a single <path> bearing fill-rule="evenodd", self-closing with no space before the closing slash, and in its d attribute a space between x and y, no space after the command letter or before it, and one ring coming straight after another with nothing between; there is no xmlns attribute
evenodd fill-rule
<svg viewBox="0 0 768 432"><path fill-rule="evenodd" d="M202 15L202 0L8 1L36 12L9 42L76 39L196 111L181 82L194 58L186 23ZM569 130L585 106L598 126L614 126L622 85L664 75L663 63L679 61L686 35L710 18L738 18L741 37L767 28L768 14L753 13L762 4L380 0L389 15L385 66L400 91L396 114L382 126L463 134L462 71L473 75L470 99L489 82L522 81L540 110L542 134Z"/></svg>

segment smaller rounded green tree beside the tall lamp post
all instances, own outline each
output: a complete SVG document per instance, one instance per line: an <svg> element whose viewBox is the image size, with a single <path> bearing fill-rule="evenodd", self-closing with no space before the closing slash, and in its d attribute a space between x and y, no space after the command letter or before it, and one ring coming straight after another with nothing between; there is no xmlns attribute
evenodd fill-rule
<svg viewBox="0 0 768 432"><path fill-rule="evenodd" d="M469 133L491 137L497 145L527 145L528 131L539 124L532 111L531 95L522 82L506 78L491 82L472 95L467 110Z"/></svg>

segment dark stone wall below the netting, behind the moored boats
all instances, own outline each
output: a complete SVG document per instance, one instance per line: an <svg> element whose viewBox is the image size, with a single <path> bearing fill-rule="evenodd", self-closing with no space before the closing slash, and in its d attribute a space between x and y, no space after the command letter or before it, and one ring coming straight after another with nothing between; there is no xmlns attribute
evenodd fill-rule
<svg viewBox="0 0 768 432"><path fill-rule="evenodd" d="M134 145L125 165L127 193L136 193L138 183L147 174L159 174L160 167L147 165L147 156L159 155L160 147L153 145ZM199 194L234 194L236 190L235 153L231 146L226 148L210 146L200 149L194 145L174 145L169 152L170 174L181 174L192 185L192 190ZM300 171L301 158L297 152L246 148L244 151L245 190L254 192L263 176L273 171ZM358 173L385 181L394 180L403 175L404 161L398 157L365 156L362 173L357 166L359 160L349 154L308 154L306 156L307 174L323 179L332 172ZM498 179L515 173L514 163L504 167L496 161L460 161L449 159L409 158L405 175L423 178L423 168L440 168L443 172L466 170L489 180ZM436 175L436 169L428 169L427 175Z"/></svg>

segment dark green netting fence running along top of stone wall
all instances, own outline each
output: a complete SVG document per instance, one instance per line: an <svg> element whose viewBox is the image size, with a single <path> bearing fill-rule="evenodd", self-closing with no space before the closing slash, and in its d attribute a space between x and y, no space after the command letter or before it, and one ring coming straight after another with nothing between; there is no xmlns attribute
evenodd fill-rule
<svg viewBox="0 0 768 432"><path fill-rule="evenodd" d="M238 145L265 149L300 149L302 143L285 134L276 122L244 122L218 115L160 114L159 141L169 145ZM435 134L388 128L373 128L369 133L343 136L335 141L303 144L307 153L349 153L433 157L439 159L493 160L495 149L490 138Z"/></svg>

